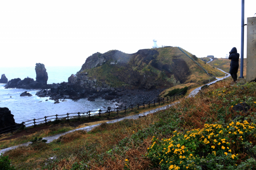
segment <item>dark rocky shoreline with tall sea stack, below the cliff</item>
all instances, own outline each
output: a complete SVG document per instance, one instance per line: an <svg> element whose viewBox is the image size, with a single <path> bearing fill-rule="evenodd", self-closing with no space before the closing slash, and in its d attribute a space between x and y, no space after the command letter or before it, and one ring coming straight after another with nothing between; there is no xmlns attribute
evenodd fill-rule
<svg viewBox="0 0 256 170"><path fill-rule="evenodd" d="M112 100L117 102L118 106L137 105L142 102L149 102L157 99L160 92L164 89L129 89L129 88L113 88L105 82L100 82L87 76L87 73L72 74L68 78L68 82L47 84L48 74L44 64L36 63L36 81L33 78L14 78L6 83L5 88L22 88L39 90L36 95L39 97L50 97L54 100L54 104L59 103L62 99L71 99L77 101L81 98L87 98L88 101L95 101L96 98ZM4 75L4 74L3 74ZM20 96L31 96L27 92ZM47 99L48 100L48 99Z"/></svg>

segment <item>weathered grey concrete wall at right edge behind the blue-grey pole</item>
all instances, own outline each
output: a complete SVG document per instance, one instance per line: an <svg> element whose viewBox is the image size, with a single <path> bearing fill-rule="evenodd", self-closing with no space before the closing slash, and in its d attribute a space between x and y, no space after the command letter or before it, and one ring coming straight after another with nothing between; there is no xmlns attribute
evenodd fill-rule
<svg viewBox="0 0 256 170"><path fill-rule="evenodd" d="M247 18L246 81L256 79L256 17Z"/></svg>

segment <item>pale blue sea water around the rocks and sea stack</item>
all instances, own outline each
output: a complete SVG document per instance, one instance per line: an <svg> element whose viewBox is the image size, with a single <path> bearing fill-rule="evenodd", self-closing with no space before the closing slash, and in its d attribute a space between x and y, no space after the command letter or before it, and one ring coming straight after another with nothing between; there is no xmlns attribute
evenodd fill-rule
<svg viewBox="0 0 256 170"><path fill-rule="evenodd" d="M48 84L67 82L71 74L76 74L81 66L65 66L65 67L47 67ZM36 80L36 72L34 67L5 67L0 68L0 75L5 74L8 80L13 78L26 77L34 78ZM25 122L27 120L43 118L44 116L61 115L76 112L88 112L93 110L106 110L104 107L110 106L116 108L115 103L104 100L102 98L90 102L87 99L80 99L74 102L70 99L58 104L54 104L54 100L48 100L49 97L40 98L36 96L38 90L30 89L5 89L5 84L0 84L0 107L7 107L14 115L16 123ZM21 97L20 94L24 91L32 94L31 97ZM52 117L54 118L54 117Z"/></svg>

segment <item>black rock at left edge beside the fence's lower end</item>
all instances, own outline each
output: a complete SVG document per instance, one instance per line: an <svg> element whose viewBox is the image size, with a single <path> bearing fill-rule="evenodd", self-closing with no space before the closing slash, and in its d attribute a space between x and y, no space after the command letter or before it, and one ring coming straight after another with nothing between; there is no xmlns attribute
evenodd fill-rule
<svg viewBox="0 0 256 170"><path fill-rule="evenodd" d="M8 108L0 108L0 129L6 128L11 125L16 125L13 117L13 114L11 114L11 111ZM6 128L4 130L7 129L9 128ZM0 130L0 132L4 130Z"/></svg>

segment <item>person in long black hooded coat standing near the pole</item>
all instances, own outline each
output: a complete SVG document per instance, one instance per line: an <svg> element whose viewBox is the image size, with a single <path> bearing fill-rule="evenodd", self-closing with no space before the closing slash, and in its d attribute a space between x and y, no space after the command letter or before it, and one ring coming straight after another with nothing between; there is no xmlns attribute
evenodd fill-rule
<svg viewBox="0 0 256 170"><path fill-rule="evenodd" d="M232 50L229 52L228 59L231 60L229 73L231 74L234 82L236 82L236 80L237 80L237 71L238 71L238 67L239 67L239 56L240 56L240 54L237 53L236 47L233 47Z"/></svg>

